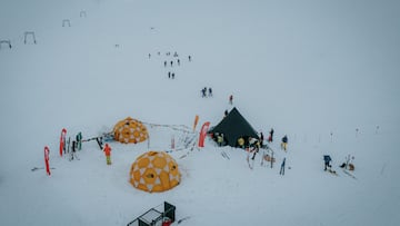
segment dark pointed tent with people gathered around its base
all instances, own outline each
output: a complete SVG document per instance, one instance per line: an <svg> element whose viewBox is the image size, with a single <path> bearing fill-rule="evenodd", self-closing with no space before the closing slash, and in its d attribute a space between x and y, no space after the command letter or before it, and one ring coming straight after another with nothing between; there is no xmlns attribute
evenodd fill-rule
<svg viewBox="0 0 400 226"><path fill-rule="evenodd" d="M259 139L257 131L240 115L237 108L233 108L209 134L223 134L224 141L231 147L237 146L240 137Z"/></svg>

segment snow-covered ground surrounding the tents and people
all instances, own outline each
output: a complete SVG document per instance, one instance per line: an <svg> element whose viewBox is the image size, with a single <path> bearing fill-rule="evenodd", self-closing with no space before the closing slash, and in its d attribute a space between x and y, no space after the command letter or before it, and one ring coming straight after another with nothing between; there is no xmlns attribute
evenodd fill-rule
<svg viewBox="0 0 400 226"><path fill-rule="evenodd" d="M164 200L178 219L191 216L180 225L398 225L399 10L378 0L2 0L0 41L12 49L0 49L1 225L126 225ZM23 43L27 31L37 45L31 35ZM163 66L168 51L179 67ZM273 168L258 155L251 170L244 151L207 140L186 158L171 153L179 186L138 190L134 159L183 136L158 127L150 143L111 143L111 166L94 141L80 160L58 155L62 128L86 139L128 116L217 125L229 95L254 129L274 128ZM50 177L31 171L44 146ZM323 171L324 154L338 177ZM348 155L357 179L338 167Z"/></svg>

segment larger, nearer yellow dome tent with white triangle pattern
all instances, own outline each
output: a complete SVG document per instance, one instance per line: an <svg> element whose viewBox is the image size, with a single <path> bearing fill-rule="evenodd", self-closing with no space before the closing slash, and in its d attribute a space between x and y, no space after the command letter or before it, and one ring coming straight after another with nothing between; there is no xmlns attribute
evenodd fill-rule
<svg viewBox="0 0 400 226"><path fill-rule="evenodd" d="M164 151L150 150L131 166L130 183L144 191L164 191L179 185L181 175L177 161Z"/></svg>

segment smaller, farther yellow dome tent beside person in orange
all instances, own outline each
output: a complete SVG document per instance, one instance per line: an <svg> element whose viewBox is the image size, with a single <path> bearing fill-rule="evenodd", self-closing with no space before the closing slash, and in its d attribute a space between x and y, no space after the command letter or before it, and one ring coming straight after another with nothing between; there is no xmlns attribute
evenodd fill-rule
<svg viewBox="0 0 400 226"><path fill-rule="evenodd" d="M149 138L146 126L141 121L130 117L118 121L112 131L114 139L124 144L137 144Z"/></svg>

